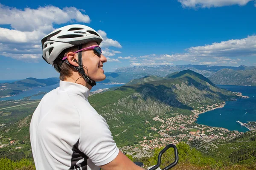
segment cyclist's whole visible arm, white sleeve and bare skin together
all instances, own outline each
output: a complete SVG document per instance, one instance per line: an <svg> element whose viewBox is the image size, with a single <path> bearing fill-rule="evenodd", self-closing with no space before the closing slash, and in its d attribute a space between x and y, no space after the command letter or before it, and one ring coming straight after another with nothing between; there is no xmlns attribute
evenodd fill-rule
<svg viewBox="0 0 256 170"><path fill-rule="evenodd" d="M102 170L144 170L116 146L105 119L97 113L81 116L79 150Z"/></svg>

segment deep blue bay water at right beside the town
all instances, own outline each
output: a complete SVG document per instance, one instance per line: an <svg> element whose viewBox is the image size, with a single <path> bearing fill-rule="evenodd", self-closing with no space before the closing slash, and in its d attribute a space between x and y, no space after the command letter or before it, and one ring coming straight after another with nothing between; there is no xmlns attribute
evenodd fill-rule
<svg viewBox="0 0 256 170"><path fill-rule="evenodd" d="M241 92L243 96L250 98L226 102L224 108L200 114L196 122L212 127L224 127L228 130L248 131L246 127L239 125L236 121L239 120L243 123L256 121L256 87L235 85L218 85L218 87Z"/></svg>

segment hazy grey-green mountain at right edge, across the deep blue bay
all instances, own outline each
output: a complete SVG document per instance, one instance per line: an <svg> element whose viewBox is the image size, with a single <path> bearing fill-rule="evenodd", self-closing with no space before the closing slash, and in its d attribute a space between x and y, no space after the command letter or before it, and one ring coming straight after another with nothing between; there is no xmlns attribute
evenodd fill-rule
<svg viewBox="0 0 256 170"><path fill-rule="evenodd" d="M243 67L243 66L239 66ZM218 85L256 85L256 68L244 70L221 69L209 79Z"/></svg>

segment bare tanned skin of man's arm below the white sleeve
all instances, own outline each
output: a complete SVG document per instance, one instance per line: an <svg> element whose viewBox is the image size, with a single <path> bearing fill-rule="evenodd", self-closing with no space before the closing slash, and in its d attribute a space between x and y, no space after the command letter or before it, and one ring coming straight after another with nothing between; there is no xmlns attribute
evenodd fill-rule
<svg viewBox="0 0 256 170"><path fill-rule="evenodd" d="M119 151L116 158L108 164L100 166L102 170L145 170L142 167L134 164L121 151Z"/></svg>

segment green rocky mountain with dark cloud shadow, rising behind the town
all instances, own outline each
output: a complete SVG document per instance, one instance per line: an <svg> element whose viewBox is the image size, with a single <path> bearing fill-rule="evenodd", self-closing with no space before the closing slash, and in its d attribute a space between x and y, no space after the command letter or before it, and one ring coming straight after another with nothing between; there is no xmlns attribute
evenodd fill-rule
<svg viewBox="0 0 256 170"><path fill-rule="evenodd" d="M192 110L233 97L238 96L218 88L201 74L185 70L171 77L133 80L114 91L90 96L89 102L107 120L119 146L126 146L147 135L150 126L142 123L146 120L152 125L156 123L152 118L157 115L194 115Z"/></svg>

